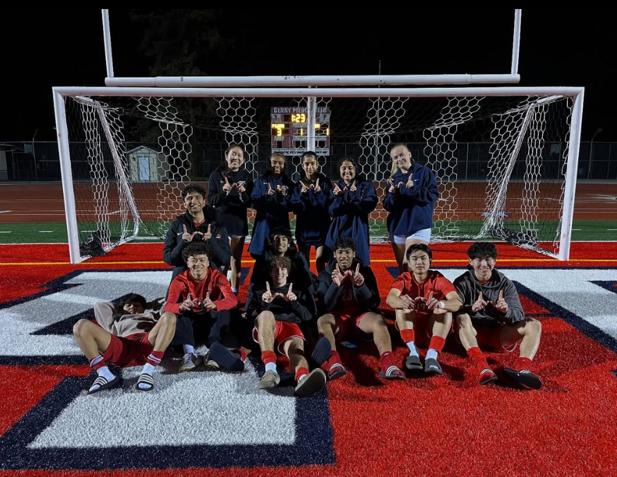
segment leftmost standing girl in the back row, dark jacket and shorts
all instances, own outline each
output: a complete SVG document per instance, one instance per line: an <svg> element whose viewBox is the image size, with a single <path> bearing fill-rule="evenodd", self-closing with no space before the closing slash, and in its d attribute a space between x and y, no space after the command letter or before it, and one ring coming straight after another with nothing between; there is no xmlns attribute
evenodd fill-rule
<svg viewBox="0 0 617 477"><path fill-rule="evenodd" d="M229 234L231 245L231 290L238 294L242 276L242 251L249 235L247 208L251 206L253 177L244 168L246 153L238 144L230 144L225 151L226 164L221 165L208 181L208 204L222 214L222 222ZM229 267L226 268L226 272Z"/></svg>

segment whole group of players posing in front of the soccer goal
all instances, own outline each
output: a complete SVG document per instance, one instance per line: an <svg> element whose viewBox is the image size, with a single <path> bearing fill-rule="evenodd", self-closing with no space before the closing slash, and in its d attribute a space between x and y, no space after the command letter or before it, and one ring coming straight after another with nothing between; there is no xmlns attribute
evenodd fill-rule
<svg viewBox="0 0 617 477"><path fill-rule="evenodd" d="M182 191L186 213L172 223L163 246L163 260L174 267L166 298L147 302L128 294L96 303L97 323L82 319L75 324L75 339L97 375L89 393L116 385L118 376L107 363L143 365L136 389L152 390L154 369L169 346L183 350L180 371L202 363L243 370L247 348L224 346L227 332L241 342L244 338L244 327L231 320L232 313L253 324L250 334L265 365L260 389L280 382L277 354L289 359L298 396L343 377L347 370L337 343L350 334L374 341L384 379L406 379L404 370L442 374L439 355L454 334L477 368L480 384L497 379L481 348L513 351L520 342L520 357L504 372L539 388L531 360L541 325L524 316L514 285L494 269L496 247L489 242L470 246L468 270L454 283L432 270L428 244L439 193L436 179L413 161L406 145L393 145L390 154L392 174L383 204L400 276L386 304L395 310L397 332L409 350L404 362L393 355L370 268L368 218L377 206L373 183L361 177L351 158L341 159L340 178L331 182L319 172L313 152L303 154L305 174L296 183L285 174L286 159L278 153L253 181L243 148L231 145L224 165L211 174L207 195L197 185ZM249 208L256 210L249 246L255 264L246 303L238 309ZM295 244L289 213L296 215ZM313 246L319 276L309 267ZM207 346L205 355L197 352L199 343ZM423 363L418 347L427 348Z"/></svg>

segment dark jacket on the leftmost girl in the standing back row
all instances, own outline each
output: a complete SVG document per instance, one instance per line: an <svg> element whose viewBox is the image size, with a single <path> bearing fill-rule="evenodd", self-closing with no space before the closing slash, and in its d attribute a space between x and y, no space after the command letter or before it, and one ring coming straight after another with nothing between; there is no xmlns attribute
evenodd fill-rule
<svg viewBox="0 0 617 477"><path fill-rule="evenodd" d="M229 192L223 190L225 177L230 184L244 181L246 189L242 194L237 187L231 188ZM247 219L247 208L251 206L251 194L253 193L253 177L246 169L236 172L227 170L222 165L210 174L208 181L208 204L220 210L222 221L225 224L227 233L231 235L249 235L249 221Z"/></svg>

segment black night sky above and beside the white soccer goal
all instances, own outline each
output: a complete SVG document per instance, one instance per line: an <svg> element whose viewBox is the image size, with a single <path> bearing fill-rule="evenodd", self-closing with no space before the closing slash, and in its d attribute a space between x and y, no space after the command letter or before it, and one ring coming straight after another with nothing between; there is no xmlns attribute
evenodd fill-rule
<svg viewBox="0 0 617 477"><path fill-rule="evenodd" d="M110 10L116 77L147 76L141 25ZM0 141L55 140L51 87L104 86L100 10L3 10ZM514 10L222 10L209 75L509 73ZM583 86L582 141L617 141L609 10L523 10L521 86ZM163 38L161 38L163 40Z"/></svg>

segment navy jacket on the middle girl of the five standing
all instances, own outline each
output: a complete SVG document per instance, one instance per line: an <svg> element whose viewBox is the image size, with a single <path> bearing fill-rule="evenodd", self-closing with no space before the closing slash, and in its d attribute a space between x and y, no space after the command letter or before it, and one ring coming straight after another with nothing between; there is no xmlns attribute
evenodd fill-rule
<svg viewBox="0 0 617 477"><path fill-rule="evenodd" d="M296 214L296 242L298 245L322 246L330 228L330 190L332 183L328 177L319 172L319 188L315 192L312 188L301 192L302 184L296 182L292 195L292 210ZM305 186L314 184L304 177L301 179Z"/></svg>

